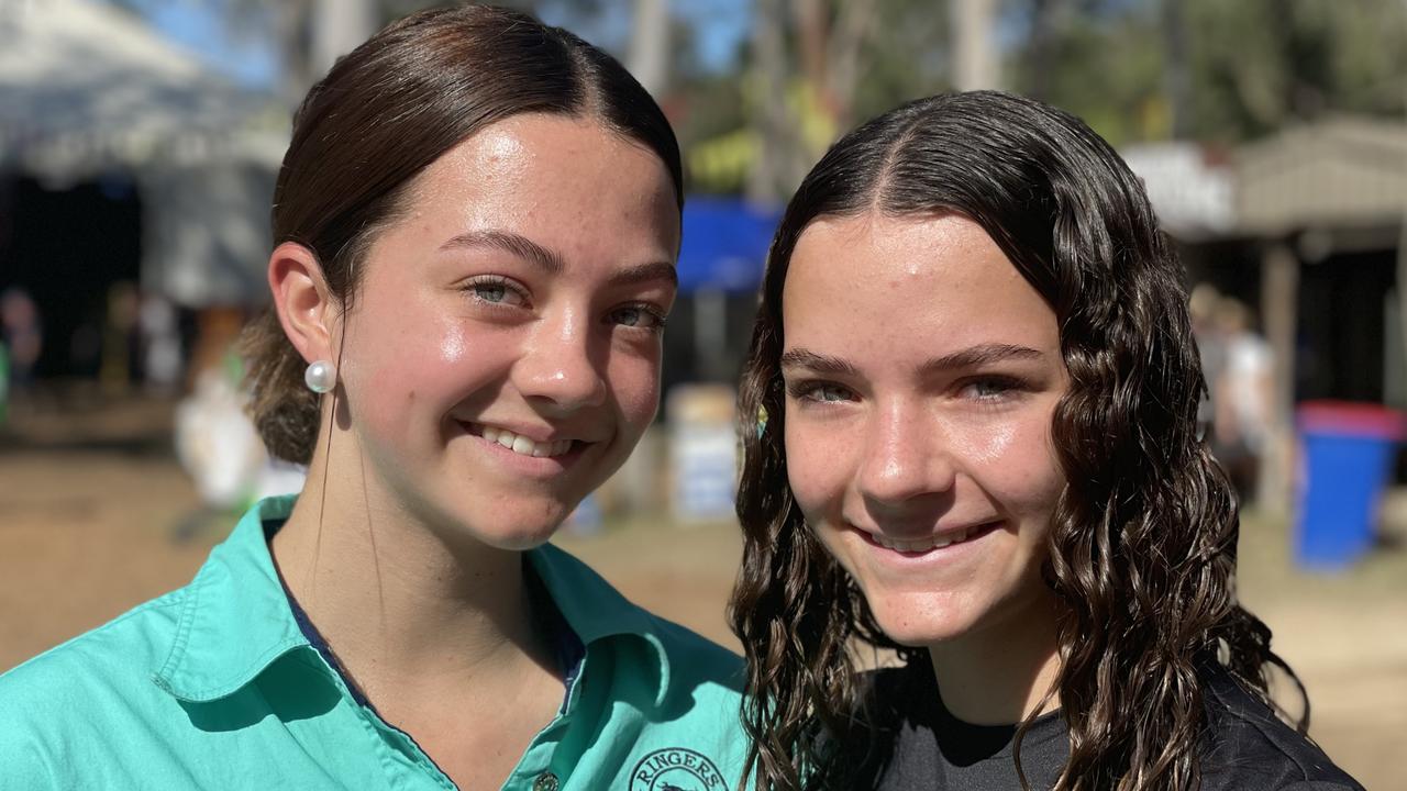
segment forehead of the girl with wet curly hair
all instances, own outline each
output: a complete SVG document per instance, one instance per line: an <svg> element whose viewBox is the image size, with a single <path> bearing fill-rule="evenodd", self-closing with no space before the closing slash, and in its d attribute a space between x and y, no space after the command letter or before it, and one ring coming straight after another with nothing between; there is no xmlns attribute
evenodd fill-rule
<svg viewBox="0 0 1407 791"><path fill-rule="evenodd" d="M782 317L788 348L827 353L1058 346L1050 305L981 225L957 214L813 222L792 252Z"/></svg>

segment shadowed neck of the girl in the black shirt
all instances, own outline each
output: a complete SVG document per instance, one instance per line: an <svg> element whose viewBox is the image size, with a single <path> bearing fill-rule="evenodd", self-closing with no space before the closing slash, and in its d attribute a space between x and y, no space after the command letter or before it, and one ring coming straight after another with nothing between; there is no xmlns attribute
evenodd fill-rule
<svg viewBox="0 0 1407 791"><path fill-rule="evenodd" d="M1057 609L1048 595L981 631L929 647L943 705L974 725L1020 722L1059 707Z"/></svg>

